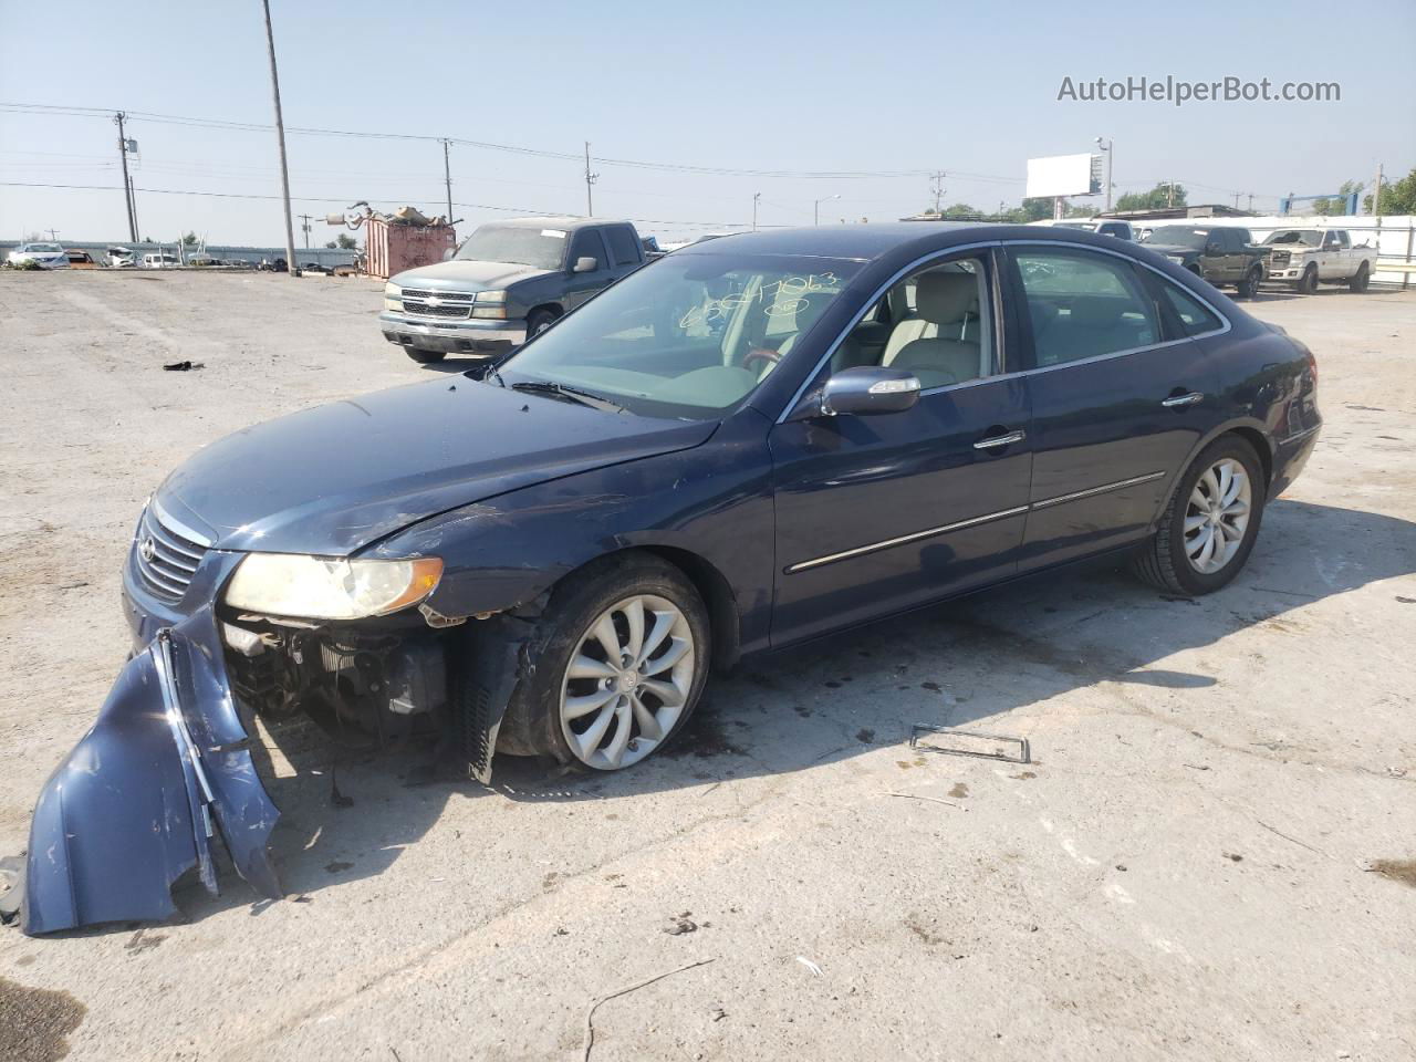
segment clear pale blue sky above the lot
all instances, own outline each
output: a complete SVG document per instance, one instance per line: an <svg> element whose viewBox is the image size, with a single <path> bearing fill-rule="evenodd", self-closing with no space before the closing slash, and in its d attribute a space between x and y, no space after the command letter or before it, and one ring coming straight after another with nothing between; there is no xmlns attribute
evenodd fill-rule
<svg viewBox="0 0 1416 1062"><path fill-rule="evenodd" d="M272 0L289 127L460 137L455 214L583 212L661 238L749 224L893 219L1017 204L1025 160L1116 144L1119 191L1177 178L1191 202L1277 197L1416 166L1416 0L1167 3L323 3ZM1127 76L1338 82L1340 102L1059 101ZM0 0L0 105L272 123L259 0ZM275 133L135 116L142 235L283 242ZM368 200L442 212L435 140L290 133L296 212ZM731 176L610 160L794 174ZM102 185L103 190L20 187ZM109 116L0 108L0 239L126 239ZM227 193L159 194L144 190ZM1100 204L1100 200L1096 201ZM472 205L477 204L477 205ZM491 210L504 207L510 210ZM303 236L296 221L296 242ZM337 229L316 224L323 245Z"/></svg>

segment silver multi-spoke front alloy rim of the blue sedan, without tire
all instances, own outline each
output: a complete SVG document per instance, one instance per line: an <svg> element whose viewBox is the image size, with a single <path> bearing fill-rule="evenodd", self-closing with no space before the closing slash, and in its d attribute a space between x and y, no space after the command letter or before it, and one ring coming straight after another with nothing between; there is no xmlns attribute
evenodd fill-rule
<svg viewBox="0 0 1416 1062"><path fill-rule="evenodd" d="M561 683L561 733L596 770L639 763L673 732L694 681L688 617L637 593L602 612L576 643Z"/></svg>

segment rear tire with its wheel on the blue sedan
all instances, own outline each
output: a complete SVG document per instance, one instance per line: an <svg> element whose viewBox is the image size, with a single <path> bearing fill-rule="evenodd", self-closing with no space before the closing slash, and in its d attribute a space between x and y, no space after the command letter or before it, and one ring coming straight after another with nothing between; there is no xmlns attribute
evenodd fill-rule
<svg viewBox="0 0 1416 1062"><path fill-rule="evenodd" d="M1226 515L1229 510L1223 510L1218 515L1218 523L1211 523L1216 517L1206 515L1205 508L1195 503L1212 496L1214 487L1219 483L1232 489L1232 480L1225 481L1218 476L1215 480L1206 480L1205 484L1201 484L1201 479L1206 473L1221 466L1228 467L1231 474L1233 474L1235 467L1243 470L1246 483L1240 484L1236 501L1243 503L1246 511ZM1214 593L1228 585L1245 566L1259 537L1266 487L1263 466L1249 443L1238 435L1223 435L1215 439L1180 477L1175 491L1165 506L1165 513L1161 515L1160 530L1134 558L1133 571L1151 586L1185 598ZM1245 490L1247 490L1247 500L1242 497ZM1243 527L1240 537L1235 539L1231 532L1238 525L1239 515L1243 517ZM1187 539L1185 524L1192 520L1205 523L1192 527L1194 534ZM1199 551L1199 558L1191 559L1191 552L1195 551L1197 544L1204 541L1206 530L1209 537L1216 538L1221 544L1215 547L1215 552L1228 551L1228 556L1223 558L1211 555L1208 564L1214 566L1209 568L1204 561L1204 549ZM1229 549L1231 545L1232 549Z"/></svg>

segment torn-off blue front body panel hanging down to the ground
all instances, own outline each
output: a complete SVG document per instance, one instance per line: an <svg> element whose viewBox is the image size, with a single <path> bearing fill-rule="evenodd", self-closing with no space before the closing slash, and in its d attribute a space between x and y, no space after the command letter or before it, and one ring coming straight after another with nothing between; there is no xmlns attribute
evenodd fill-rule
<svg viewBox="0 0 1416 1062"><path fill-rule="evenodd" d="M25 933L160 920L195 867L215 893L219 833L263 896L282 889L268 841L279 810L256 776L207 606L123 667L92 729L50 776L30 826Z"/></svg>

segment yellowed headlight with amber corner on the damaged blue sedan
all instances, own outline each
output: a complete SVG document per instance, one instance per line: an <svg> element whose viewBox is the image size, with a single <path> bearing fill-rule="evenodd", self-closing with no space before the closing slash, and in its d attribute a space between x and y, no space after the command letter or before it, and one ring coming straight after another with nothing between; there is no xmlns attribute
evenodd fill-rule
<svg viewBox="0 0 1416 1062"><path fill-rule="evenodd" d="M387 616L438 586L442 561L367 561L303 554L249 554L227 586L227 605L303 619Z"/></svg>

